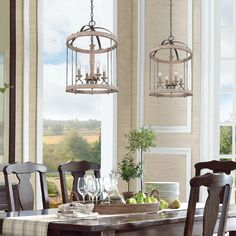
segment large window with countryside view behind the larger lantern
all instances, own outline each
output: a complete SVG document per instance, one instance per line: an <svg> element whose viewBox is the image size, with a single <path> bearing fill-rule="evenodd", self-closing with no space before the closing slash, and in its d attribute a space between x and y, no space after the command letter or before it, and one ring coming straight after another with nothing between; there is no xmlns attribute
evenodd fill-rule
<svg viewBox="0 0 236 236"><path fill-rule="evenodd" d="M94 1L97 26L114 32L114 5L111 0ZM58 181L54 177L60 163L86 159L100 163L105 168L103 173L111 170L114 159L111 152L115 149L110 137L114 137L111 132L115 127L116 95L105 95L104 99L104 95L65 92L66 37L88 24L90 1L63 0L58 4L57 0L44 0L42 12L43 162L51 172L49 187L55 190L51 194L56 195Z"/></svg>

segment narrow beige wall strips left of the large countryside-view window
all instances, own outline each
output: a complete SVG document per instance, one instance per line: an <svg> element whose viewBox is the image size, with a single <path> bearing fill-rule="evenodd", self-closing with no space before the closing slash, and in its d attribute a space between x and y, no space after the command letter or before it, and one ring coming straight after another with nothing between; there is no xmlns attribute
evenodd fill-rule
<svg viewBox="0 0 236 236"><path fill-rule="evenodd" d="M24 93L29 103L29 159L36 161L37 106L37 0L29 1L29 71L24 71L24 8L23 0L16 1L16 161L23 160ZM24 76L29 76L29 90L24 88ZM26 77L27 77L26 76ZM26 118L25 118L26 119ZM26 134L27 135L27 134Z"/></svg>

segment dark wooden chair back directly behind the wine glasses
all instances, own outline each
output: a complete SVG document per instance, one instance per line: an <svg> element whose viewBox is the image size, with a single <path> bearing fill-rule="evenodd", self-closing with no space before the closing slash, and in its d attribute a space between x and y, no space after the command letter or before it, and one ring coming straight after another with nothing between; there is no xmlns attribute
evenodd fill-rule
<svg viewBox="0 0 236 236"><path fill-rule="evenodd" d="M80 198L78 192L78 178L85 175L86 171L93 170L96 178L100 178L100 165L89 161L69 161L58 166L62 202L67 203L70 201L67 193L66 173L71 173L73 176L72 192L77 198Z"/></svg>

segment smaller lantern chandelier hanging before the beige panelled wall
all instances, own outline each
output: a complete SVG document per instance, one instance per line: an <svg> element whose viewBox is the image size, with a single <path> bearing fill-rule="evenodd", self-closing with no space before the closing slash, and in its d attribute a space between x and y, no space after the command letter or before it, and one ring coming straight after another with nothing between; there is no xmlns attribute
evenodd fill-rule
<svg viewBox="0 0 236 236"><path fill-rule="evenodd" d="M172 0L170 0L170 36L149 53L149 95L155 97L192 96L192 50L172 34ZM166 67L166 79L162 69ZM181 71L179 76L177 71Z"/></svg>

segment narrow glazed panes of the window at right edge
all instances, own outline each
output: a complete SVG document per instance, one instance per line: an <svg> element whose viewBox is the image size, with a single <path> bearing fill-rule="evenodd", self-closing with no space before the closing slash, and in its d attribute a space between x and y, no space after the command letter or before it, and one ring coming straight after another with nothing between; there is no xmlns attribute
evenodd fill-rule
<svg viewBox="0 0 236 236"><path fill-rule="evenodd" d="M235 160L236 77L234 1L220 1L220 158Z"/></svg>

